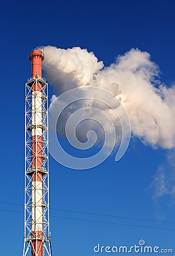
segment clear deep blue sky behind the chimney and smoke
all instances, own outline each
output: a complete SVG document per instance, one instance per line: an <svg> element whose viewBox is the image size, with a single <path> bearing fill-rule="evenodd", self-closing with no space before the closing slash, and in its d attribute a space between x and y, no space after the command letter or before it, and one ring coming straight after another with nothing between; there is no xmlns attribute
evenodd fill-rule
<svg viewBox="0 0 175 256"><path fill-rule="evenodd" d="M174 1L154 0L1 4L2 255L22 255L23 249L24 85L31 76L28 54L38 46L80 46L110 65L116 56L138 47L151 54L159 65L161 81L170 86L175 80L174 9ZM49 97L52 91L50 88ZM162 174L157 170L164 170L165 181L173 185L173 164L168 160L173 154L173 150L153 150L131 138L118 163L112 154L91 170L70 170L50 157L53 255L93 256L97 243L131 246L141 239L147 245L175 250L174 194L155 200L155 187L151 186L156 175Z"/></svg>

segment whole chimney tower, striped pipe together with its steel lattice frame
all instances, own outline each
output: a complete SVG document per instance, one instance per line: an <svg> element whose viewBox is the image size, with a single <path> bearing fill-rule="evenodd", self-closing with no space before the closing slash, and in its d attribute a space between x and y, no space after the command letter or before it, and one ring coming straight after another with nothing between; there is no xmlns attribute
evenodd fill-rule
<svg viewBox="0 0 175 256"><path fill-rule="evenodd" d="M29 59L32 77L26 83L23 256L52 256L49 240L48 84L41 76L43 52L34 50Z"/></svg>

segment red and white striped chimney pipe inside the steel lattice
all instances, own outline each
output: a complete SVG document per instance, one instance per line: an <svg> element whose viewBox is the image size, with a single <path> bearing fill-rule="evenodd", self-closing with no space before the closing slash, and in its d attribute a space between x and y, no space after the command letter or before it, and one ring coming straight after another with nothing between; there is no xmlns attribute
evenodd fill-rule
<svg viewBox="0 0 175 256"><path fill-rule="evenodd" d="M41 78L44 54L36 49L31 52L29 59L32 64L32 78ZM42 219L42 92L41 83L32 85L32 233L35 240L32 241L32 256L43 256L43 245L40 240L43 230ZM37 253L37 254L36 254Z"/></svg>

